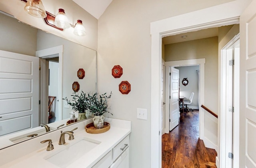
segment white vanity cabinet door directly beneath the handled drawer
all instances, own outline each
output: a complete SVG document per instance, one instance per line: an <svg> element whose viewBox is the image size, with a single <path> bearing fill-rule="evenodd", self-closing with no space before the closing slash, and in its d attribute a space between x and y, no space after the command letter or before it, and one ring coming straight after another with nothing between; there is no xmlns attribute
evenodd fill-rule
<svg viewBox="0 0 256 168"><path fill-rule="evenodd" d="M129 168L129 147L116 159L110 168Z"/></svg>

